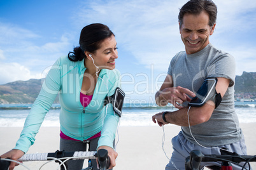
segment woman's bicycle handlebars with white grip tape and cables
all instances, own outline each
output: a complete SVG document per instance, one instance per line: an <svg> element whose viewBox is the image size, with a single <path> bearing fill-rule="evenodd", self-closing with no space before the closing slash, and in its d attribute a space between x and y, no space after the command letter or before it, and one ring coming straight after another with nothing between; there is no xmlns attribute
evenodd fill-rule
<svg viewBox="0 0 256 170"><path fill-rule="evenodd" d="M62 167L64 169L67 169L65 162L68 160L75 160L75 159L98 159L99 163L99 169L100 170L106 170L108 167L110 167L110 157L108 157L108 150L100 149L97 152L96 151L89 151L89 152L65 152L57 150L54 153L37 153L37 154L25 154L23 155L18 161L47 161L48 162L59 162L58 167ZM3 159L0 158L0 170L8 170L8 167L10 166L10 162L17 162L15 160L11 159ZM22 163L17 162L18 164ZM43 166L45 166L43 164ZM41 166L41 167L43 167ZM25 168L29 169L28 167L24 166ZM40 167L40 169L41 169ZM57 167L57 168L58 168ZM86 168L87 169L87 168Z"/></svg>

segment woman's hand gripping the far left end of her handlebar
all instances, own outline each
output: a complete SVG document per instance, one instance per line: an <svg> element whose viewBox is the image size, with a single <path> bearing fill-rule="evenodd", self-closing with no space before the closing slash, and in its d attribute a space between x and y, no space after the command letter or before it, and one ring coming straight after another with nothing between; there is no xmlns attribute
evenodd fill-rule
<svg viewBox="0 0 256 170"><path fill-rule="evenodd" d="M18 160L23 155L24 155L23 151L18 150L18 149L13 149L13 150L10 150L10 151L6 152L5 154L1 155L1 158ZM9 170L13 170L15 166L18 166L18 164L15 162L11 162L10 166L9 166Z"/></svg>

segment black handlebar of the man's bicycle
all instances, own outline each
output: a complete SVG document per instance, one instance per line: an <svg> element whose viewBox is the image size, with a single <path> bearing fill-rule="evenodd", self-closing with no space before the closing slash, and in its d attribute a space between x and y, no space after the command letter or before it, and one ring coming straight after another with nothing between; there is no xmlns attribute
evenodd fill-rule
<svg viewBox="0 0 256 170"><path fill-rule="evenodd" d="M231 152L230 152L231 153ZM192 150L190 156L185 160L186 170L198 170L201 162L256 162L256 155L238 155L231 153L229 155L204 155L200 150Z"/></svg>

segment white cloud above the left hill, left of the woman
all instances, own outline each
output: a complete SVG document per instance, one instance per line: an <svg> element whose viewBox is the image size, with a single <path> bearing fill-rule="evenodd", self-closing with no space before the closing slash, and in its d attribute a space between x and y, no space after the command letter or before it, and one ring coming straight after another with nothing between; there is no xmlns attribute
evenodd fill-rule
<svg viewBox="0 0 256 170"><path fill-rule="evenodd" d="M68 55L71 39L65 34L55 42L41 44L41 37L30 30L9 23L0 25L1 83L41 78L39 73L60 56ZM2 67L3 65L3 67Z"/></svg>

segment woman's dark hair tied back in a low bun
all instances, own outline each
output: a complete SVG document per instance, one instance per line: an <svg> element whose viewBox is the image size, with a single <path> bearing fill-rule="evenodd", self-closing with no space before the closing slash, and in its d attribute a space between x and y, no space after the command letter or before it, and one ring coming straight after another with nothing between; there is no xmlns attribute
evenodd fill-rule
<svg viewBox="0 0 256 170"><path fill-rule="evenodd" d="M115 36L110 28L101 23L92 23L83 27L79 40L80 46L74 48L73 52L68 53L69 60L73 62L82 61L85 58L84 51L94 53L101 48L101 42L112 35Z"/></svg>

